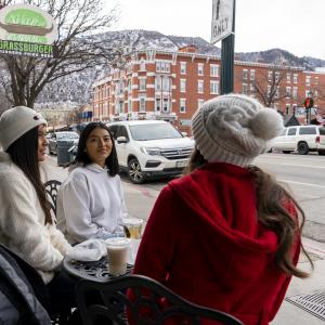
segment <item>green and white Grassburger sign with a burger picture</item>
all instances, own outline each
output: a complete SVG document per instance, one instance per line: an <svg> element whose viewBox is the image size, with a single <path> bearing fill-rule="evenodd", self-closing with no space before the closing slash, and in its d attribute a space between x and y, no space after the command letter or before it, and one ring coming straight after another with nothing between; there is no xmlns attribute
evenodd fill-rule
<svg viewBox="0 0 325 325"><path fill-rule="evenodd" d="M38 6L12 4L0 10L0 52L55 57L57 39L54 20Z"/></svg>

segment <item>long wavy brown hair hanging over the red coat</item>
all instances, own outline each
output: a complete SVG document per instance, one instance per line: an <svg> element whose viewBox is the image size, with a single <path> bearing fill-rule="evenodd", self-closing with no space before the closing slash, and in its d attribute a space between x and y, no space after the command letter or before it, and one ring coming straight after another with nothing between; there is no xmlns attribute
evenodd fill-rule
<svg viewBox="0 0 325 325"><path fill-rule="evenodd" d="M205 164L207 164L207 160L200 152L195 148L184 173L191 173ZM258 220L265 227L274 231L278 237L278 246L275 252L275 262L277 266L288 275L295 275L302 278L308 277L309 274L307 272L303 272L294 265L291 257L291 247L295 244L296 233L298 231L298 235L301 236L304 224L306 217L303 210L290 193L272 176L264 172L257 166L249 166L248 170L250 171L256 184ZM300 224L298 224L298 230L296 221L284 208L285 202L292 203L299 213ZM302 243L300 245L313 268L313 262L306 251Z"/></svg>

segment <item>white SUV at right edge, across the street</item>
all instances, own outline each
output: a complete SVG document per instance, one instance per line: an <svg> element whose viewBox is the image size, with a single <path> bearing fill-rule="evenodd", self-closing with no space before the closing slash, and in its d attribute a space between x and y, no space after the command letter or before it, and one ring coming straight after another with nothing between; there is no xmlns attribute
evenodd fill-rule
<svg viewBox="0 0 325 325"><path fill-rule="evenodd" d="M299 155L317 152L325 155L325 128L320 126L298 126L286 128L272 142L272 150L289 154L297 151Z"/></svg>

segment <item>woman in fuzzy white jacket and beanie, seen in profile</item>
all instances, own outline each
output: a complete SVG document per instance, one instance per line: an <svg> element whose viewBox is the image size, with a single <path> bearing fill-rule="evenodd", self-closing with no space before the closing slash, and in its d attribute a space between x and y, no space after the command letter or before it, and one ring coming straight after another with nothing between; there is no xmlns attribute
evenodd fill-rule
<svg viewBox="0 0 325 325"><path fill-rule="evenodd" d="M31 264L48 287L53 310L76 306L75 282L58 272L70 245L55 227L40 177L47 121L17 106L0 118L0 243Z"/></svg>

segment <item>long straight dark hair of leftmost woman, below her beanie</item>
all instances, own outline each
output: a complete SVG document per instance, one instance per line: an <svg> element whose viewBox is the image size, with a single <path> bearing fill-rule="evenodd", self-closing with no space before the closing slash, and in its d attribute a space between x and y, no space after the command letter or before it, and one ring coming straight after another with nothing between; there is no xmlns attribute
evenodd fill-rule
<svg viewBox="0 0 325 325"><path fill-rule="evenodd" d="M12 161L23 170L26 178L32 184L40 206L46 214L46 224L53 223L46 188L40 177L38 162L38 127L35 127L18 138L9 146L6 153L10 155Z"/></svg>

